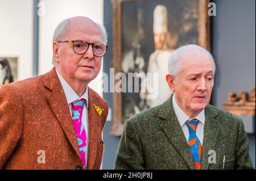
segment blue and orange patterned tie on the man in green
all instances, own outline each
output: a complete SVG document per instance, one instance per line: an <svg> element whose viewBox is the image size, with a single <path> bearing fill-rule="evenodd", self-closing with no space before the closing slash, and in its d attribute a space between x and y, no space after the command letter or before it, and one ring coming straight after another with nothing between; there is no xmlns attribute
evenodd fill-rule
<svg viewBox="0 0 256 181"><path fill-rule="evenodd" d="M188 126L189 137L188 137L188 146L191 150L192 158L195 163L196 169L201 169L201 155L203 146L199 138L196 136L196 128L199 123L199 120L192 119L185 122Z"/></svg>

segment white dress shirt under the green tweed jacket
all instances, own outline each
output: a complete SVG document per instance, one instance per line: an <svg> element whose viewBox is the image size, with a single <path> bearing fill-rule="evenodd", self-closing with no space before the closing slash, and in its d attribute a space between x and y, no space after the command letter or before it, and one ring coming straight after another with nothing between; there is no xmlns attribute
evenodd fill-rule
<svg viewBox="0 0 256 181"><path fill-rule="evenodd" d="M203 140L204 140L204 122L205 122L205 114L204 110L199 113L196 117L188 117L183 110L177 105L175 94L172 96L172 106L174 107L174 112L177 116L177 119L179 120L180 127L183 130L183 133L185 135L185 138L188 142L188 137L189 137L189 131L188 127L185 124L187 120L192 120L192 119L197 119L199 120L199 123L196 128L196 136L199 138L201 145L203 146Z"/></svg>

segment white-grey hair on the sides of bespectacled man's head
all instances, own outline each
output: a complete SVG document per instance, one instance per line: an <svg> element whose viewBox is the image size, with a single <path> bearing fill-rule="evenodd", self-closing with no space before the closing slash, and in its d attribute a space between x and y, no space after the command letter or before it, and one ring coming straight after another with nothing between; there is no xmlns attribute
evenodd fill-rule
<svg viewBox="0 0 256 181"><path fill-rule="evenodd" d="M53 33L52 41L60 41L63 38L63 36L65 35L65 33L68 30L68 22L70 19L71 18L65 19L58 24L58 26L56 27L56 29ZM108 33L106 32L106 28L99 23L96 23L96 25L101 31L101 34L103 37L102 43L107 44L108 43ZM55 63L55 59L54 59L54 56L52 56L52 64L54 65L54 63Z"/></svg>

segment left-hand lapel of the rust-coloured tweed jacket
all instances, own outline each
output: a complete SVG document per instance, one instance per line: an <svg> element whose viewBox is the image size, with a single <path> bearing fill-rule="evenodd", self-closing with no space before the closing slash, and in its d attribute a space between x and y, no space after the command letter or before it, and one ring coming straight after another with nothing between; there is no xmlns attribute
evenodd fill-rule
<svg viewBox="0 0 256 181"><path fill-rule="evenodd" d="M45 86L51 90L51 93L47 96L49 106L59 121L69 142L75 149L76 154L80 158L79 146L77 144L71 113L55 68L46 73Z"/></svg>

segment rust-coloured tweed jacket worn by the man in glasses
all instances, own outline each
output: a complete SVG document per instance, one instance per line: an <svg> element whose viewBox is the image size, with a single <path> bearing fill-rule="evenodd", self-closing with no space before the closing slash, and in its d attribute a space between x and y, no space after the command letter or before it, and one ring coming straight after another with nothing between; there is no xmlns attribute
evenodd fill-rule
<svg viewBox="0 0 256 181"><path fill-rule="evenodd" d="M100 169L108 103L92 89L88 91L87 169ZM101 115L94 104L104 109ZM45 163L38 162L43 156L40 150L45 153ZM81 167L72 117L55 68L44 75L1 86L0 169Z"/></svg>

